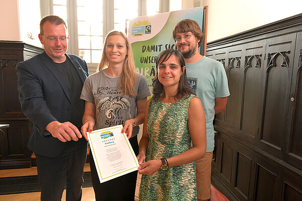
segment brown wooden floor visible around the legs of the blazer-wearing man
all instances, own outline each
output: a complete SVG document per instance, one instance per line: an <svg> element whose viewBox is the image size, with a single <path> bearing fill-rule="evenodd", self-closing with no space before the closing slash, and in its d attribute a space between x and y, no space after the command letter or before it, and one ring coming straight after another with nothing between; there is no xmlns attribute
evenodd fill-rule
<svg viewBox="0 0 302 201"><path fill-rule="evenodd" d="M89 164L86 164L84 171L90 171ZM30 176L37 175L37 167L25 168L25 169L10 169L10 170L0 170L0 177L11 177L11 176ZM65 201L64 190L62 195L62 201ZM29 192L29 193L19 193L19 194L8 194L0 195L1 201L38 201L40 200L40 192ZM95 194L93 187L83 188L82 200L84 201L95 201Z"/></svg>

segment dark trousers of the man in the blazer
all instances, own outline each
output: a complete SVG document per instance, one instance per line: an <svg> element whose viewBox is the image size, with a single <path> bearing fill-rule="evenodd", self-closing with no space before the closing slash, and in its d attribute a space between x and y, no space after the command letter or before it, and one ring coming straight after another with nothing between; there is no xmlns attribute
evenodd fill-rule
<svg viewBox="0 0 302 201"><path fill-rule="evenodd" d="M65 147L57 157L37 157L38 179L41 184L41 200L61 200L66 182L66 201L82 198L84 165L87 157L88 142L65 142Z"/></svg>

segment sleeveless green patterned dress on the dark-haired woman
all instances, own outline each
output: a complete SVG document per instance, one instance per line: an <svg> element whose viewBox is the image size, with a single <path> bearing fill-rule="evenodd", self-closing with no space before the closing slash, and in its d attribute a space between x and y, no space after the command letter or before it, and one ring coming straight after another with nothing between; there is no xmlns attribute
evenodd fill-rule
<svg viewBox="0 0 302 201"><path fill-rule="evenodd" d="M169 158L191 148L188 108L191 98L175 103L150 100L147 131L149 144L145 161ZM197 200L195 161L159 169L152 176L143 174L139 200Z"/></svg>

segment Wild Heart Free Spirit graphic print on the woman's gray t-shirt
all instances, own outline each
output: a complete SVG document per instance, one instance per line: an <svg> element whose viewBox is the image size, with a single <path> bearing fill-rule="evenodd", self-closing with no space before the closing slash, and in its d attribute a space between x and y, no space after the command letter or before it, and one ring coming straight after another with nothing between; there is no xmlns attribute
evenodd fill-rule
<svg viewBox="0 0 302 201"><path fill-rule="evenodd" d="M114 93L113 93L114 92ZM124 124L131 118L130 98L124 96L108 96L110 94L120 94L120 90L115 87L105 87L103 90L98 89L97 95L97 115L98 128L106 128L115 125Z"/></svg>

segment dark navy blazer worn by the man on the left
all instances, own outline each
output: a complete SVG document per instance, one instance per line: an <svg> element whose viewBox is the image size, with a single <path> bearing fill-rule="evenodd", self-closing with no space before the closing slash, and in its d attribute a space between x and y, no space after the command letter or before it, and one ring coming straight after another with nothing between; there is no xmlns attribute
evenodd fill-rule
<svg viewBox="0 0 302 201"><path fill-rule="evenodd" d="M65 55L79 73L83 85L88 77L86 62L78 56ZM65 80L45 51L19 62L16 72L22 111L33 123L28 148L43 156L56 157L65 143L52 137L45 127L52 121L70 122L71 102Z"/></svg>

